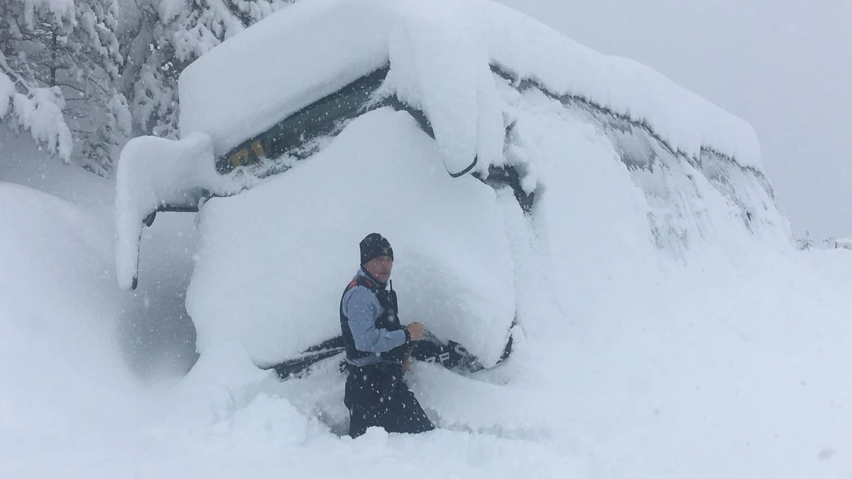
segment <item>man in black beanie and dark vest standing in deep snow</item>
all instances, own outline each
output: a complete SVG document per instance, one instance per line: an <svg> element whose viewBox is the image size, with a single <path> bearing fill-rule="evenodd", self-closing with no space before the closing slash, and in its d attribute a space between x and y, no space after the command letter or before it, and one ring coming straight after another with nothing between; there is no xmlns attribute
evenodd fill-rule
<svg viewBox="0 0 852 479"><path fill-rule="evenodd" d="M381 234L360 242L361 268L343 291L340 328L346 345L346 393L349 436L368 427L388 432L419 433L435 429L417 398L402 380L413 341L423 338L417 321L401 326L396 292L391 286L394 250Z"/></svg>

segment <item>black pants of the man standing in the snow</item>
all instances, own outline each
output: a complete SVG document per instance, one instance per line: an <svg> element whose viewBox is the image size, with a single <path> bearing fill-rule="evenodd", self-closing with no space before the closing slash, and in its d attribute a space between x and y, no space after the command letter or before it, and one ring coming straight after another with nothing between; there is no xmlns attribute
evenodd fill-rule
<svg viewBox="0 0 852 479"><path fill-rule="evenodd" d="M412 434L435 429L402 381L402 366L348 366L348 372L343 403L349 409L349 436L358 437L371 426Z"/></svg>

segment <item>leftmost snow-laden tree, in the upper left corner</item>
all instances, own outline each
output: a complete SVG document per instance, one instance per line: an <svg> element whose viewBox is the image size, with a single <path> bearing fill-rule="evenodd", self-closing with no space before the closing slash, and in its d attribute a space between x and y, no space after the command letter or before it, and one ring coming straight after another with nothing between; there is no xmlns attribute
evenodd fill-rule
<svg viewBox="0 0 852 479"><path fill-rule="evenodd" d="M0 117L101 175L130 133L130 110L115 87L124 61L117 10L115 0L0 4Z"/></svg>

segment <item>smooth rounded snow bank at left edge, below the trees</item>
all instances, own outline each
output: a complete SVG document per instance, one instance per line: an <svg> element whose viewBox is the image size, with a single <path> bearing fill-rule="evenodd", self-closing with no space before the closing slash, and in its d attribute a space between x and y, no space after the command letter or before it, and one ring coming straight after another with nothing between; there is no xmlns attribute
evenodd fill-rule
<svg viewBox="0 0 852 479"><path fill-rule="evenodd" d="M0 451L31 437L77 443L120 418L135 392L115 337L110 224L6 182L0 224Z"/></svg>

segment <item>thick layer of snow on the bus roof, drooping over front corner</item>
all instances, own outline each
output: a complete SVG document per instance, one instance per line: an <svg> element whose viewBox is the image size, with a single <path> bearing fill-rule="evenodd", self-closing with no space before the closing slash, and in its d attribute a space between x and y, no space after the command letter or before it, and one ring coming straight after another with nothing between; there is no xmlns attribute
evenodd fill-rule
<svg viewBox="0 0 852 479"><path fill-rule="evenodd" d="M449 47L449 48L448 48ZM676 150L702 147L762 169L751 125L635 61L602 55L489 0L296 3L211 49L181 74L181 135L216 155L390 64L388 86L426 113L447 170L502 152L490 65L648 124Z"/></svg>

